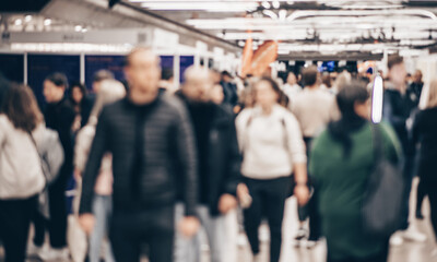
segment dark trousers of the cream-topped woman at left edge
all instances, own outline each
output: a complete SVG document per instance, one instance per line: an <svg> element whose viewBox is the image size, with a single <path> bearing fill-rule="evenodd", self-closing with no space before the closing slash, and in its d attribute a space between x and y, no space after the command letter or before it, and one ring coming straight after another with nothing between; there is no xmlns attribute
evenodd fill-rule
<svg viewBox="0 0 437 262"><path fill-rule="evenodd" d="M5 262L24 262L31 217L36 198L0 200L0 239L3 241Z"/></svg>

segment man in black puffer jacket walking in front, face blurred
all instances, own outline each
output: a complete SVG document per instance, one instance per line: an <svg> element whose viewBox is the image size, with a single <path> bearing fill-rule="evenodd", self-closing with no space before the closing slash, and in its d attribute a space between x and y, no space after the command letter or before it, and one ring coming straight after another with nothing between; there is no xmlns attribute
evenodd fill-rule
<svg viewBox="0 0 437 262"><path fill-rule="evenodd" d="M105 107L98 119L83 175L80 223L86 233L93 230L94 184L102 157L111 153L114 215L109 231L116 261L138 262L141 245L147 243L149 261L168 262L173 260L178 187L186 205L181 233L190 237L199 227L192 129L184 105L158 94L160 60L150 49L132 50L125 72L128 97ZM178 184L179 180L185 183Z"/></svg>

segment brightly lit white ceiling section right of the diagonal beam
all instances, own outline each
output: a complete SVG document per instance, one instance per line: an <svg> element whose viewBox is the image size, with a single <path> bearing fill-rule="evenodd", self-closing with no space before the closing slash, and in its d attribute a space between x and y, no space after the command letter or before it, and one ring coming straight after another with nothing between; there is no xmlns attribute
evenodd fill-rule
<svg viewBox="0 0 437 262"><path fill-rule="evenodd" d="M437 45L437 1L122 0L122 4L253 48L277 40L282 56L427 50Z"/></svg>

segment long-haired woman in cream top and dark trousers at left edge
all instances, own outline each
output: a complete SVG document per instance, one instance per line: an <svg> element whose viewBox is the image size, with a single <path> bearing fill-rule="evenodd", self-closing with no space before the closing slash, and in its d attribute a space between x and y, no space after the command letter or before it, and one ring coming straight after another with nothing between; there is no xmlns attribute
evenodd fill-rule
<svg viewBox="0 0 437 262"><path fill-rule="evenodd" d="M45 187L35 144L43 136L44 118L27 86L12 85L4 98L0 114L0 239L5 262L24 262L36 195Z"/></svg>

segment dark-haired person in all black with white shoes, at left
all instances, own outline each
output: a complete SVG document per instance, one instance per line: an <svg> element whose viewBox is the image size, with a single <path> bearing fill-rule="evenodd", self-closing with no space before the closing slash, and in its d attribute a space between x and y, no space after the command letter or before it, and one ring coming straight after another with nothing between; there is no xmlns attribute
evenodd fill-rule
<svg viewBox="0 0 437 262"><path fill-rule="evenodd" d="M47 102L44 118L46 126L58 132L64 152L64 163L58 178L49 186L50 218L46 221L39 214L35 215L34 251L44 260L64 260L69 258L67 249L67 206L66 189L73 171L73 141L71 128L74 121L74 109L66 97L68 88L67 76L63 73L52 73L44 81L44 96ZM51 250L42 252L46 230L50 235Z"/></svg>

